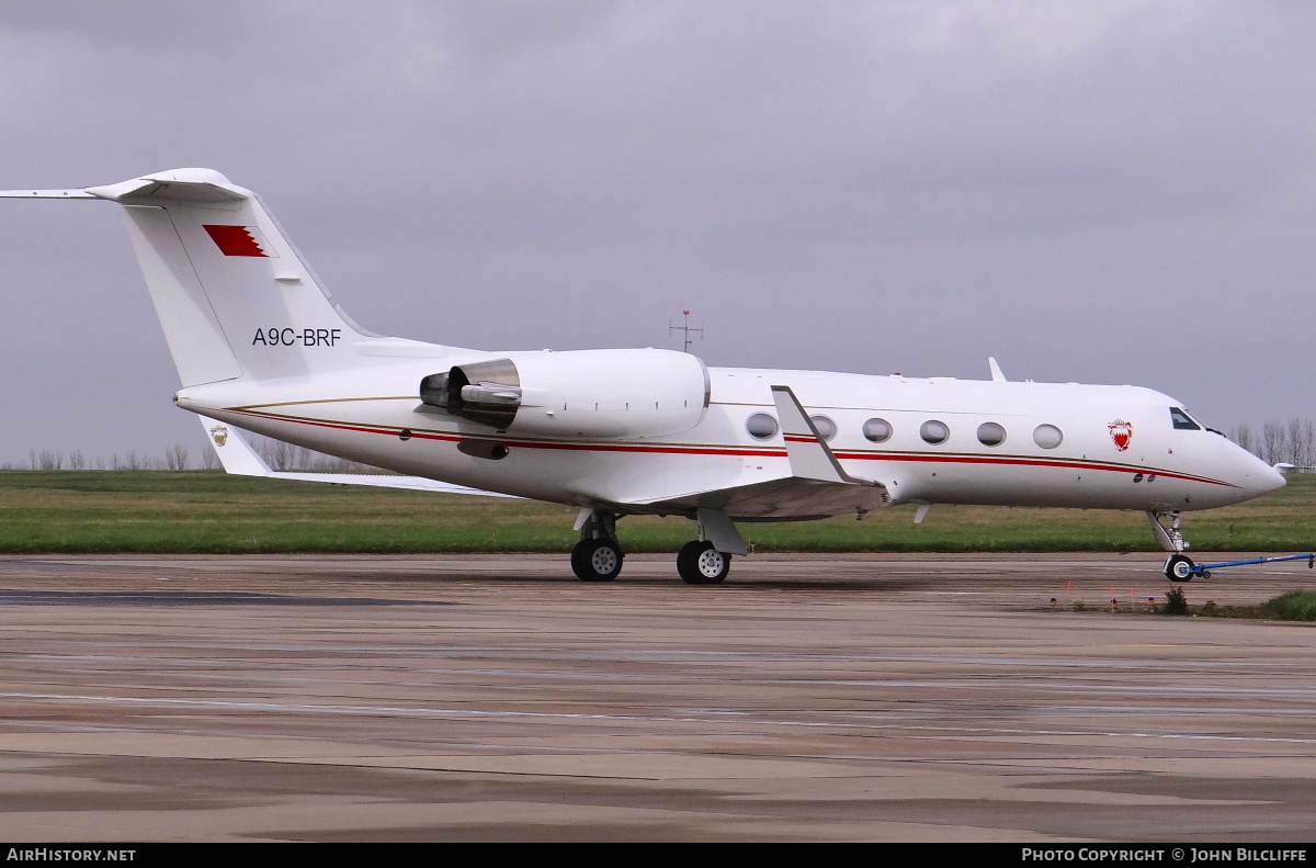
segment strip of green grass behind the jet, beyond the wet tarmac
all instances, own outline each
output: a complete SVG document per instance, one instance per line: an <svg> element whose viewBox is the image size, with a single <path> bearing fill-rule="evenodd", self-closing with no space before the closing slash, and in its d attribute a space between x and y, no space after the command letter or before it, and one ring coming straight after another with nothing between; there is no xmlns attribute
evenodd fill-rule
<svg viewBox="0 0 1316 868"><path fill-rule="evenodd" d="M1259 501L1184 516L1199 552L1312 551L1316 477ZM221 472L0 472L0 552L566 552L572 507ZM742 524L759 552L1159 551L1141 512L913 507L853 518ZM683 518L628 516L628 551L672 552Z"/></svg>

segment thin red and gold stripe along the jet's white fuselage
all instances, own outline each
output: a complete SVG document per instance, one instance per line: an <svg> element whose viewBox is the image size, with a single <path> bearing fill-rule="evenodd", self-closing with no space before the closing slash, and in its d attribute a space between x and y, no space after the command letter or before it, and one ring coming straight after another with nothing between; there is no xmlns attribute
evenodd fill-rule
<svg viewBox="0 0 1316 868"><path fill-rule="evenodd" d="M320 421L316 419L300 419L297 416L283 416L279 414L262 414L251 412L249 410L230 410L228 412L241 414L243 416L257 416L258 419L271 419L274 421L290 421L299 425L312 425L316 428L333 428L336 431L357 431L361 433L375 433L386 435L390 437L396 437L399 428L378 428L368 425L349 425L340 421ZM413 431L413 440L440 440L447 443L458 443L461 440L467 440L468 437L462 435L441 435L430 433L424 431ZM644 452L653 454L696 454L696 456L758 456L767 458L784 458L786 449L734 449L729 447L649 447L637 444L604 444L604 443L538 443L534 440L509 440L505 437L499 437L499 440L509 447L519 447L521 449L557 449L569 452ZM816 443L813 437L808 437L807 443ZM898 454L898 453L873 453L873 452L836 452L837 458L842 461L924 461L924 462L940 462L940 464L990 464L990 465L1007 465L1007 466L1024 466L1024 468L1062 468L1070 470L1101 470L1105 473L1142 473L1148 475L1166 477L1169 479L1184 479L1187 482L1205 482L1209 485L1223 485L1225 487L1237 489L1237 485L1230 482L1221 482L1220 479L1209 479L1207 477L1187 475L1183 473L1174 473L1170 470L1158 470L1148 468L1130 468L1126 465L1105 465L1105 464L1091 464L1086 461L1065 461L1062 458L1007 458L999 456L946 456L946 454Z"/></svg>

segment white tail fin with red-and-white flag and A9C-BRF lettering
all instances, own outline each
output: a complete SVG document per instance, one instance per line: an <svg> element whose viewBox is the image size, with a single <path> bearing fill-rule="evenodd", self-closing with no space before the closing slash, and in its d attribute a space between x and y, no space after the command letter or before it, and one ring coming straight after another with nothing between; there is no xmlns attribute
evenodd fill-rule
<svg viewBox="0 0 1316 868"><path fill-rule="evenodd" d="M183 386L336 370L374 337L338 308L261 199L209 169L86 190L4 191L124 205Z"/></svg>

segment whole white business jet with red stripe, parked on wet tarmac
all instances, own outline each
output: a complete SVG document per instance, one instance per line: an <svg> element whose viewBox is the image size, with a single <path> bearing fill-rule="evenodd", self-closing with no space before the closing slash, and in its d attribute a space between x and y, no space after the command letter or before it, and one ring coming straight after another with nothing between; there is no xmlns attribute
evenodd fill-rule
<svg viewBox="0 0 1316 868"><path fill-rule="evenodd" d="M692 585L721 582L744 522L896 503L1142 510L1192 577L1180 512L1283 475L1149 389L708 367L662 349L490 353L366 332L261 199L176 169L5 198L124 207L182 389L230 472L271 472L230 425L401 475L293 474L499 493L580 508L571 566L611 581L624 515L684 515Z"/></svg>

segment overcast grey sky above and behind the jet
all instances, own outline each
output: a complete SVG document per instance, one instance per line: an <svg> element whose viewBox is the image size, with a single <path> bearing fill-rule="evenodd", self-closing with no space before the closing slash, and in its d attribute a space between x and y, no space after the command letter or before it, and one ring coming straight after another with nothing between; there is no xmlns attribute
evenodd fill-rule
<svg viewBox="0 0 1316 868"><path fill-rule="evenodd" d="M261 192L376 332L1316 415L1316 4L0 5L3 187ZM117 205L0 200L0 461L201 449Z"/></svg>

